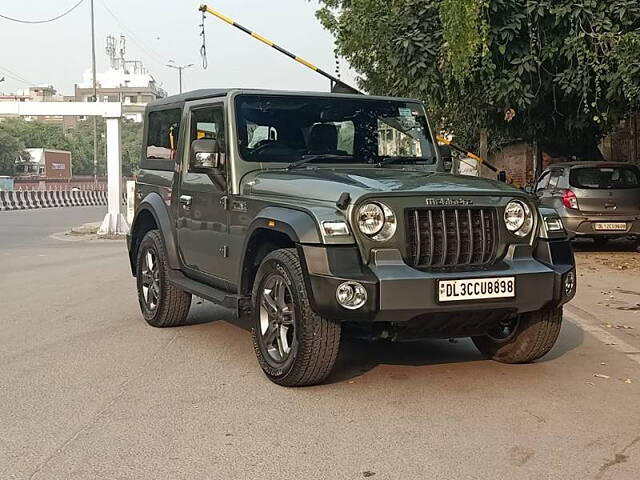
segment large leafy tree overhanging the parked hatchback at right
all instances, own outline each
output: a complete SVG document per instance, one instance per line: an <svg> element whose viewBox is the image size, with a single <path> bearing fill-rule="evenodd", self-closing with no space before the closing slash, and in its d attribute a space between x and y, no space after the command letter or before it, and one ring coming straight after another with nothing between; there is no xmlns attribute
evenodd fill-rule
<svg viewBox="0 0 640 480"><path fill-rule="evenodd" d="M318 18L370 93L425 100L477 148L540 141L593 157L640 106L637 0L321 0Z"/></svg>

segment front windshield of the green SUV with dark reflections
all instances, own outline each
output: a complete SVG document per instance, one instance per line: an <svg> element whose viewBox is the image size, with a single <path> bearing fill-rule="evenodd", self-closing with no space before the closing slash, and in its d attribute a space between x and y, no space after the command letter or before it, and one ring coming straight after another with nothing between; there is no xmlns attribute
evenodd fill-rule
<svg viewBox="0 0 640 480"><path fill-rule="evenodd" d="M389 157L435 163L419 103L302 96L241 95L238 146L248 162L377 164ZM313 158L310 158L313 156Z"/></svg>

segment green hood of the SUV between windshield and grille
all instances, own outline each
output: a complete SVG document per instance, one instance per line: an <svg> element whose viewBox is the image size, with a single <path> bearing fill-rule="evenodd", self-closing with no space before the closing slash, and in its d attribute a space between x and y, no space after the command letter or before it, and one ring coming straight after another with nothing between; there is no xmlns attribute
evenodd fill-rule
<svg viewBox="0 0 640 480"><path fill-rule="evenodd" d="M335 202L342 193L363 195L513 195L521 191L496 180L422 170L390 168L316 168L261 170L244 177L246 195L277 195Z"/></svg>

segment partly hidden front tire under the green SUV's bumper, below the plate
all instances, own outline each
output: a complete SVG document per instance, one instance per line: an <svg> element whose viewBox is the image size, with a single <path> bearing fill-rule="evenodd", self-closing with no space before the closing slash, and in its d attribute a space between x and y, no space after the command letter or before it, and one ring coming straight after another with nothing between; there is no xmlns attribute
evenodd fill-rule
<svg viewBox="0 0 640 480"><path fill-rule="evenodd" d="M562 308L544 308L501 323L487 335L472 337L478 350L502 363L529 363L553 348L562 326Z"/></svg>

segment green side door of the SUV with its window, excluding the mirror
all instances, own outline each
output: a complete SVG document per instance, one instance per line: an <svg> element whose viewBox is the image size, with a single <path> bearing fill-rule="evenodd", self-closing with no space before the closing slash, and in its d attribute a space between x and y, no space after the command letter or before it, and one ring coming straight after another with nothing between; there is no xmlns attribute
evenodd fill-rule
<svg viewBox="0 0 640 480"><path fill-rule="evenodd" d="M231 279L228 258L229 218L227 203L228 165L222 102L195 106L190 110L188 155L183 163L178 206L178 246L188 273L222 287ZM191 143L210 138L223 152L223 176L190 169Z"/></svg>

